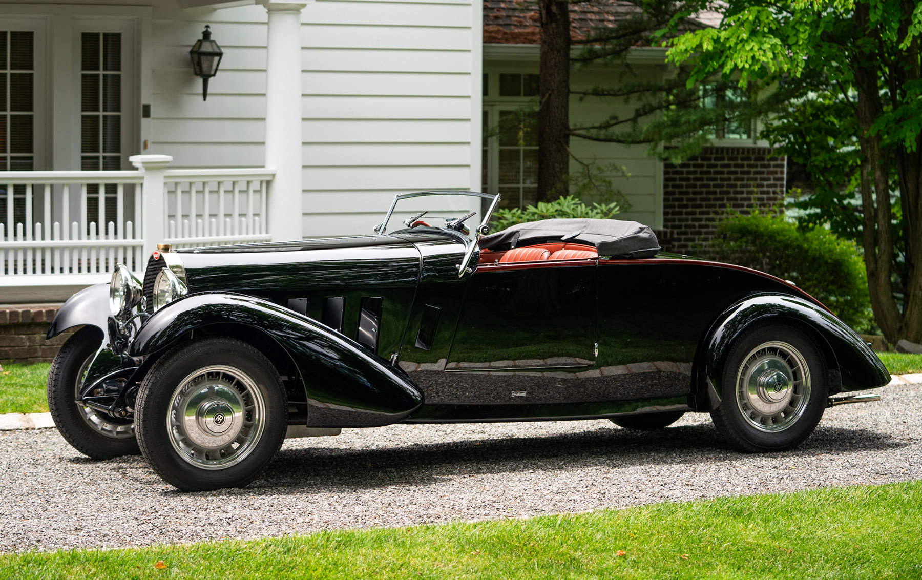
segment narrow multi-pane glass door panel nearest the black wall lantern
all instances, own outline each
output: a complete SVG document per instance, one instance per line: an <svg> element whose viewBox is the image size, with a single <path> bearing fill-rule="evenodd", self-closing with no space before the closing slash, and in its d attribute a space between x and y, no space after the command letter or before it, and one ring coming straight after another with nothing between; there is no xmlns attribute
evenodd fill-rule
<svg viewBox="0 0 922 580"><path fill-rule="evenodd" d="M80 169L122 168L122 34L80 35ZM105 221L115 221L117 185L105 186ZM87 212L99 215L100 188L89 185ZM105 224L97 224L105 231ZM117 224L116 224L117 227Z"/></svg>

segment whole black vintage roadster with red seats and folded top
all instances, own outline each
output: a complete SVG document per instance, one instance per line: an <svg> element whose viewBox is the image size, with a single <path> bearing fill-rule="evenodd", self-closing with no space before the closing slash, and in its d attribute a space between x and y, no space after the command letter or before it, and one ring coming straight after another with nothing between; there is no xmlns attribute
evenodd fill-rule
<svg viewBox="0 0 922 580"><path fill-rule="evenodd" d="M662 254L630 221L488 235L498 201L397 195L372 236L162 246L143 286L119 266L48 331L82 326L48 379L60 432L207 490L253 479L286 435L396 422L656 429L710 412L736 449L777 451L890 381L790 282Z"/></svg>

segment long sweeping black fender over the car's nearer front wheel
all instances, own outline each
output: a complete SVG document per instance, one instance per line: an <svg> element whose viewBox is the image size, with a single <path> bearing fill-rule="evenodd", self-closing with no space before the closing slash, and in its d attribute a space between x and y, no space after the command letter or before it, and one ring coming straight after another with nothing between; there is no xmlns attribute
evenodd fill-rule
<svg viewBox="0 0 922 580"><path fill-rule="evenodd" d="M138 331L129 354L153 355L190 333L195 336L196 330L227 325L250 327L284 349L301 374L309 426L386 425L422 404L420 390L403 371L359 343L278 304L242 294L201 292L172 302Z"/></svg>

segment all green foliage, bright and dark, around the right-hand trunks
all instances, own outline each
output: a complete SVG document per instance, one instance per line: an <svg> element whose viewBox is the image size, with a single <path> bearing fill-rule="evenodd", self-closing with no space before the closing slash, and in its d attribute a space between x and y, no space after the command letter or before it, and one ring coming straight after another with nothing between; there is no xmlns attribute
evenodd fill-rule
<svg viewBox="0 0 922 580"><path fill-rule="evenodd" d="M811 191L798 199L805 221L862 241L875 316L890 342L922 340L914 314L922 304L914 280L922 254L919 6L727 0L717 28L682 35L668 53L690 67L689 87L720 77L778 94L762 136L807 165Z"/></svg>

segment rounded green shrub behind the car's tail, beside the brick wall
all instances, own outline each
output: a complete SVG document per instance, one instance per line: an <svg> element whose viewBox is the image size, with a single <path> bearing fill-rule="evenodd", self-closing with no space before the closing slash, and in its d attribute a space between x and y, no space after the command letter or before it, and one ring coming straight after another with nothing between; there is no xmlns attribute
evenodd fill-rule
<svg viewBox="0 0 922 580"><path fill-rule="evenodd" d="M864 262L850 240L757 211L723 219L710 249L718 260L791 280L858 332L872 329Z"/></svg>

